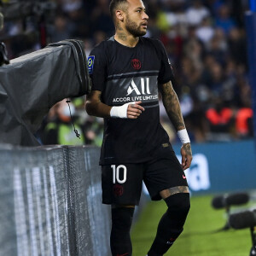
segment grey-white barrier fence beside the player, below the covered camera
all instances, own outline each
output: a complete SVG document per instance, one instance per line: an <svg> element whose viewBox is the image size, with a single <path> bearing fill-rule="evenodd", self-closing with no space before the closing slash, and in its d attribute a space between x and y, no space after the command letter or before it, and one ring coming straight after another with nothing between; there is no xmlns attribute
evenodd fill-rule
<svg viewBox="0 0 256 256"><path fill-rule="evenodd" d="M110 255L99 154L0 145L0 255Z"/></svg>

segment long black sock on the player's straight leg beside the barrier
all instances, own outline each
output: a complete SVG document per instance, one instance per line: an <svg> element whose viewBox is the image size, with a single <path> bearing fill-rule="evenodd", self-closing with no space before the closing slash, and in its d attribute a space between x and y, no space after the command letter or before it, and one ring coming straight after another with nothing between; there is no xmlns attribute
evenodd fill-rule
<svg viewBox="0 0 256 256"><path fill-rule="evenodd" d="M113 256L131 256L131 223L133 207L117 207L112 209L112 230L110 247Z"/></svg>

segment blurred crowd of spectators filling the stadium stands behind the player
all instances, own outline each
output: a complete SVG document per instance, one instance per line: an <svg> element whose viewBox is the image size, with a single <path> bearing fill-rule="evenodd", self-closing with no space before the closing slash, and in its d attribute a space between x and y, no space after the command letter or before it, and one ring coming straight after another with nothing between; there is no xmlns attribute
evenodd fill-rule
<svg viewBox="0 0 256 256"><path fill-rule="evenodd" d="M84 41L86 55L113 35L109 0L55 0L55 9L38 17L7 20L0 37L9 58L40 49L44 42L67 38ZM192 142L231 141L253 137L251 88L247 78L244 13L247 1L150 0L147 37L166 46L183 117ZM42 32L42 26L45 26ZM39 34L39 36L38 36ZM73 113L80 140L75 137ZM162 125L176 143L166 112ZM101 145L102 119L88 116L84 98L57 103L45 118L38 137L42 143Z"/></svg>

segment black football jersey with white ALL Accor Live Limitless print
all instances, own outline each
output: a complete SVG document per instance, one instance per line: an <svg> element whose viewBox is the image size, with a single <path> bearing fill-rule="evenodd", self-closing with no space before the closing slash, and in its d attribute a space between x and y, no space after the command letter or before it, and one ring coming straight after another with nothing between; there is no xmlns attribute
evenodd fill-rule
<svg viewBox="0 0 256 256"><path fill-rule="evenodd" d="M160 125L158 84L172 80L172 67L159 40L139 38L136 47L108 38L88 58L92 90L102 91L102 102L121 106L142 101L137 119L104 119L101 165L139 163L169 144Z"/></svg>

